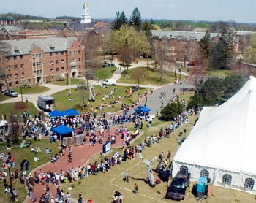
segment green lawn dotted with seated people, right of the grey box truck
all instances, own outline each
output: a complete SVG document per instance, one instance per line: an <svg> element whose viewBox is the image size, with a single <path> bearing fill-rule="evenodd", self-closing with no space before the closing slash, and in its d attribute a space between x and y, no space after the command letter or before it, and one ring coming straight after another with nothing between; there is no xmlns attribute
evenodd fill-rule
<svg viewBox="0 0 256 203"><path fill-rule="evenodd" d="M118 88L117 91L113 92L113 96L115 99L118 99L118 96L123 96L123 99L121 102L124 104L132 104L131 99L126 99L124 96L127 95L125 92L129 87L124 86L107 86L106 88L101 88L100 86L94 86L93 92L99 93L99 96L95 96L95 102L89 102L87 99L89 98L89 91L84 91L84 98L85 103L89 103L89 107L85 108L85 111L90 111L91 105L95 108L97 106L100 106L102 104L102 97L104 97L105 94L110 93L113 88ZM69 108L74 108L75 110L78 110L78 112L83 112L83 109L81 105L83 104L83 91L81 90L75 90L75 88L72 88L72 94L71 97L73 98L72 102L69 102L69 96L68 96L69 90L60 91L58 93L54 93L53 96L55 98L55 105L57 110L68 110ZM135 91L133 94L133 102L138 100L137 93L140 93L140 96L142 96L146 92L146 88L140 88L139 91ZM105 102L107 104L110 104L110 102L114 101L115 99L105 99ZM108 108L108 105L105 106L105 110L97 110L97 115L99 115L100 112L117 112L121 110L121 103L114 104L114 108Z"/></svg>

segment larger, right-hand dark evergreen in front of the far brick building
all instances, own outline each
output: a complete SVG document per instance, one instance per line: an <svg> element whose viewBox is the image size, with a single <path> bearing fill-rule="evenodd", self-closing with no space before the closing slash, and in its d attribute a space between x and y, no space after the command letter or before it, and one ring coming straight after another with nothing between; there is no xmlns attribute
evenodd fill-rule
<svg viewBox="0 0 256 203"><path fill-rule="evenodd" d="M215 45L211 56L211 68L230 69L229 63L234 54L234 38L231 34L222 33L217 45Z"/></svg>

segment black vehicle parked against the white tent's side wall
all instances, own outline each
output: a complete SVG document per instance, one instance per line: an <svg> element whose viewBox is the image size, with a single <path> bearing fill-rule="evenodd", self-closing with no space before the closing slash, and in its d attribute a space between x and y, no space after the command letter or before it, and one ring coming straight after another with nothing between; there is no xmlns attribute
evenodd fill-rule
<svg viewBox="0 0 256 203"><path fill-rule="evenodd" d="M188 172L178 172L170 183L165 199L184 199L190 175Z"/></svg>

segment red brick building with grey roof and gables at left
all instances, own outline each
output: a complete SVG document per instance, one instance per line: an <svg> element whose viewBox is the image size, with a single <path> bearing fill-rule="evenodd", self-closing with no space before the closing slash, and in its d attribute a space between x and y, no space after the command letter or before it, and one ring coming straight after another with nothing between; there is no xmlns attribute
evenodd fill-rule
<svg viewBox="0 0 256 203"><path fill-rule="evenodd" d="M84 47L75 37L1 42L10 50L0 50L0 82L8 87L18 86L22 80L44 83L57 75L79 77L84 73Z"/></svg>

